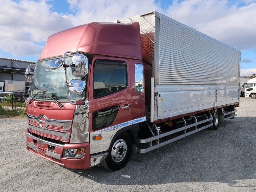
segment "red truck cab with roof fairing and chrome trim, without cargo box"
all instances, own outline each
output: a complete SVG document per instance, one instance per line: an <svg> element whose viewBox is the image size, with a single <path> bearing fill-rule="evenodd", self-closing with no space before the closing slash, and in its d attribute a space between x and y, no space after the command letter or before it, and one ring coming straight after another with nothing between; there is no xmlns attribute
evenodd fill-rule
<svg viewBox="0 0 256 192"><path fill-rule="evenodd" d="M71 54L63 58L67 50ZM72 75L74 53L88 60L83 76ZM50 67L52 60L56 68ZM67 92L71 79L85 83L81 94ZM105 166L122 168L130 157L132 142L137 141L138 124L134 122L146 120L144 89L137 22L95 22L53 34L31 78L27 149L77 169L95 166L115 153L110 158L114 166L108 160ZM124 126L126 132L120 136L118 130ZM116 149L109 150L112 142L118 142Z"/></svg>

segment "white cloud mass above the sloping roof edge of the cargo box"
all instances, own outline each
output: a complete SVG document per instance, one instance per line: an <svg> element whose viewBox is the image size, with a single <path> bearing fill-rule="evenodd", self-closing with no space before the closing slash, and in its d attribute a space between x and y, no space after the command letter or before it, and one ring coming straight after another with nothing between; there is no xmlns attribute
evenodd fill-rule
<svg viewBox="0 0 256 192"><path fill-rule="evenodd" d="M230 5L228 0L175 0L166 14L239 50L255 48L256 3Z"/></svg>

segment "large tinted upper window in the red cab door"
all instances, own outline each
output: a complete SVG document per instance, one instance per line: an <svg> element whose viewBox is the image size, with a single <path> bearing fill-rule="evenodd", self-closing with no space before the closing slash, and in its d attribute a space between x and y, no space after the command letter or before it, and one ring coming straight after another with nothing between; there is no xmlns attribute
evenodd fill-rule
<svg viewBox="0 0 256 192"><path fill-rule="evenodd" d="M124 61L96 60L93 74L93 98L125 89L127 86L126 66Z"/></svg>

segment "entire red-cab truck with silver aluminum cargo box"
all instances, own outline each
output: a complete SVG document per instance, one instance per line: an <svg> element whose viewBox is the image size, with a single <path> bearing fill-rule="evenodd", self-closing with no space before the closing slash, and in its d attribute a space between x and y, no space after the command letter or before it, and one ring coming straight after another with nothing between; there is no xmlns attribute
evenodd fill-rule
<svg viewBox="0 0 256 192"><path fill-rule="evenodd" d="M234 118L239 69L239 50L156 11L58 32L25 72L26 148L67 168L119 170L132 149Z"/></svg>

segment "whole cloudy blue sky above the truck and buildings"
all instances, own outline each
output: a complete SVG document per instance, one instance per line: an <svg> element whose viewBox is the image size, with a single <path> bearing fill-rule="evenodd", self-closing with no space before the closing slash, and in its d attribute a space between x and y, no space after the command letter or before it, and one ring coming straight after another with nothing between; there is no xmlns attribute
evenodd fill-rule
<svg viewBox="0 0 256 192"><path fill-rule="evenodd" d="M255 0L0 0L0 57L34 61L51 34L152 10L241 50L241 76L256 73Z"/></svg>

